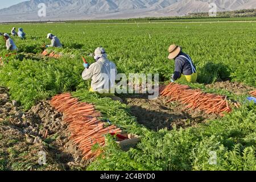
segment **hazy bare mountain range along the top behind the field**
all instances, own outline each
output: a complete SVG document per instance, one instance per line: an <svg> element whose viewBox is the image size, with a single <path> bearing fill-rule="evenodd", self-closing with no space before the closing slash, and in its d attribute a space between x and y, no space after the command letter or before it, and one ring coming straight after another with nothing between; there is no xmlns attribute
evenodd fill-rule
<svg viewBox="0 0 256 182"><path fill-rule="evenodd" d="M212 2L217 11L256 8L256 0L31 0L1 9L0 22L184 16L208 12ZM40 3L45 17L38 15Z"/></svg>

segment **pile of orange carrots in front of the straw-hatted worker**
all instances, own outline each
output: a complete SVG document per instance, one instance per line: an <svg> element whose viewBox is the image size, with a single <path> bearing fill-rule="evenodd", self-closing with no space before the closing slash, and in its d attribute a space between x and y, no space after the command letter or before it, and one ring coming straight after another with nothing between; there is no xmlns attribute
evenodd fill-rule
<svg viewBox="0 0 256 182"><path fill-rule="evenodd" d="M186 109L203 110L207 114L219 114L224 116L224 113L230 113L232 109L229 106L225 96L216 94L204 93L200 89L191 89L187 85L171 83L167 86L159 87L160 96L166 97L168 102L179 101L185 105ZM238 108L240 104L234 103Z"/></svg>

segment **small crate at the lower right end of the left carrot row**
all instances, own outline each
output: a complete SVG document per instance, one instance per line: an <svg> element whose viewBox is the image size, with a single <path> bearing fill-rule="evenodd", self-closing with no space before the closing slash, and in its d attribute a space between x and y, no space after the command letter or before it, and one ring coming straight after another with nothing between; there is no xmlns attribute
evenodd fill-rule
<svg viewBox="0 0 256 182"><path fill-rule="evenodd" d="M141 141L141 137L139 137L138 135L134 135L134 134L121 134L123 137L127 137L129 139L126 140L122 140L122 139L118 139L117 143L119 144L119 146L121 147L121 149L123 151L129 151L130 148L133 148L135 146L137 146L137 144Z"/></svg>

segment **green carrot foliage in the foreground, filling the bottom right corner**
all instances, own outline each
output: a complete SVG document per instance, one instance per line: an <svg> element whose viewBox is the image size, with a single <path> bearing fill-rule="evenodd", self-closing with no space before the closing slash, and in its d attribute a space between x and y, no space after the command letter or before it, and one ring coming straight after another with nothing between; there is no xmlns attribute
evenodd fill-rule
<svg viewBox="0 0 256 182"><path fill-rule="evenodd" d="M144 131L129 152L113 139L104 158L88 170L251 170L256 169L256 106L247 104L222 119L197 128ZM209 163L212 153L216 163Z"/></svg>

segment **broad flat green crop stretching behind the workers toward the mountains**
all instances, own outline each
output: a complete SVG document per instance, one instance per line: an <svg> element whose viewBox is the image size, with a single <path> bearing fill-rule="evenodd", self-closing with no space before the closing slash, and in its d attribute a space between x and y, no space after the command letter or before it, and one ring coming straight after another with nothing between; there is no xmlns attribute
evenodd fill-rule
<svg viewBox="0 0 256 182"><path fill-rule="evenodd" d="M103 46L119 72L159 73L161 80L167 81L174 70L174 61L167 59L167 49L176 43L197 65L199 82L230 79L256 85L254 22L12 26L21 26L27 33L26 40L13 38L20 53L41 53L41 46L50 44L47 33L52 32L64 44L64 49L57 52L80 59L78 55L89 55L96 47ZM0 31L9 32L9 29L9 25L2 25ZM92 57L87 58L93 61Z"/></svg>

